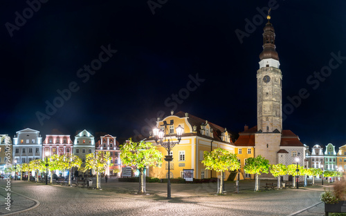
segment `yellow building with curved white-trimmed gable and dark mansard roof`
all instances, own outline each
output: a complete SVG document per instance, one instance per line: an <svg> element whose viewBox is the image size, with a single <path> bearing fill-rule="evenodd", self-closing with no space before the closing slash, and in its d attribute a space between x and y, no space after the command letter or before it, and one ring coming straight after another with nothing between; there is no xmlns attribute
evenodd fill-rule
<svg viewBox="0 0 346 216"><path fill-rule="evenodd" d="M164 130L163 121L167 123L173 122L173 125L167 126L170 130L171 137L167 135L167 139L177 141L176 128L181 126L184 128L181 141L172 148L171 155L173 161L170 162L170 177L177 178L183 177L184 169L193 169L193 177L195 179L205 179L210 177L217 177L220 173L215 171L206 170L206 167L201 163L203 161L204 151L212 151L216 148L228 150L230 153L235 153L235 146L232 141L232 133L227 131L211 122L208 122L199 117L195 117L185 112L171 112L170 116L164 119L158 119L156 126ZM161 151L163 155L167 155L167 150L152 137L147 140ZM167 140L166 140L167 141ZM161 166L152 166L149 168L149 177L167 178L168 177L168 164L163 160ZM225 179L228 178L230 172L225 172Z"/></svg>

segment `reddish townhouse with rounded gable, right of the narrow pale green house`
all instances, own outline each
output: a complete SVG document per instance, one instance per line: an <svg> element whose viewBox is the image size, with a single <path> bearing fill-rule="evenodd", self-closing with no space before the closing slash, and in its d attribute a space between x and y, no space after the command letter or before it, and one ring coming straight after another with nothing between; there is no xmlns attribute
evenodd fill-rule
<svg viewBox="0 0 346 216"><path fill-rule="evenodd" d="M120 169L120 148L119 142L116 141L116 137L112 135L101 136L100 139L96 142L95 145L96 153L99 151L109 152L111 155L111 161L109 161L113 166L109 166L104 172L106 175L116 175L113 173L114 169Z"/></svg>

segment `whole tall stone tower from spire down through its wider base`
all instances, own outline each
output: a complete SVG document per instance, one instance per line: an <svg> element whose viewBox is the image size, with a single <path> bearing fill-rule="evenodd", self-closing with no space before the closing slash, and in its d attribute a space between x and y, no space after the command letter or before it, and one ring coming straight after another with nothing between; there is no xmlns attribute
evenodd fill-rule
<svg viewBox="0 0 346 216"><path fill-rule="evenodd" d="M282 138L282 73L275 50L275 31L269 21L263 28L263 50L257 70L257 132L255 156L261 155L270 164L277 164ZM263 177L271 177L266 175Z"/></svg>

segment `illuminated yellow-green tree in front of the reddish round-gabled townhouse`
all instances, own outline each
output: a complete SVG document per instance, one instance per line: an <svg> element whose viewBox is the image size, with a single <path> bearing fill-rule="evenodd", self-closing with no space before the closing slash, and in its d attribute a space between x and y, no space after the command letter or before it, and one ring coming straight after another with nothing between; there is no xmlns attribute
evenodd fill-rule
<svg viewBox="0 0 346 216"><path fill-rule="evenodd" d="M111 161L111 156L109 152L98 151L98 153L91 153L89 155L85 155L86 163L85 167L89 169L95 170L96 173L96 188L99 189L99 173L104 172L107 166L112 166L113 164L109 164Z"/></svg>

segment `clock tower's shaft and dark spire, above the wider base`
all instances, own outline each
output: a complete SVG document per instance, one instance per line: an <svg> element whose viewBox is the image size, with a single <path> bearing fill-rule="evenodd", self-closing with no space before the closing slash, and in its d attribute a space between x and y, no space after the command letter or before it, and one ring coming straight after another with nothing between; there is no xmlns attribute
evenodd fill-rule
<svg viewBox="0 0 346 216"><path fill-rule="evenodd" d="M275 32L270 22L263 28L263 50L257 70L257 128L261 132L282 132L282 73L275 51ZM277 131L278 130L278 131Z"/></svg>

